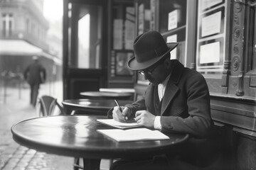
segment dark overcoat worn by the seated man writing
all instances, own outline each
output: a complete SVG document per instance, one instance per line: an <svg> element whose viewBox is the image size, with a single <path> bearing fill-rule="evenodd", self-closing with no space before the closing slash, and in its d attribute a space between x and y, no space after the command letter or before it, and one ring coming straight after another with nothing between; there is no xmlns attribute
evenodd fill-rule
<svg viewBox="0 0 256 170"><path fill-rule="evenodd" d="M210 95L202 74L183 67L178 60L171 60L171 77L161 103L161 127L163 132L182 132L194 137L207 137L213 125L210 117ZM155 101L157 86L150 84L145 96L127 105L136 111L146 110L157 115Z"/></svg>

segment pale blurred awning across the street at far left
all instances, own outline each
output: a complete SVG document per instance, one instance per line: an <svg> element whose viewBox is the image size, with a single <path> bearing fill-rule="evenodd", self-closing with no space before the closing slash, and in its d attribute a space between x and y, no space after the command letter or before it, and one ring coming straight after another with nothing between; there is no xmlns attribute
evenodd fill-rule
<svg viewBox="0 0 256 170"><path fill-rule="evenodd" d="M41 48L25 40L0 40L0 55L38 55L53 60L58 65L62 64L60 58L43 52Z"/></svg>

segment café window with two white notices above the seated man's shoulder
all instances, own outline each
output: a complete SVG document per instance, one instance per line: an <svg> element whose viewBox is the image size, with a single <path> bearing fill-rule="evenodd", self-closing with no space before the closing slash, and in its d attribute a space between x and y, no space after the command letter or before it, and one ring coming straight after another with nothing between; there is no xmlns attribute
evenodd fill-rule
<svg viewBox="0 0 256 170"><path fill-rule="evenodd" d="M228 1L199 1L196 69L203 74L223 72Z"/></svg>

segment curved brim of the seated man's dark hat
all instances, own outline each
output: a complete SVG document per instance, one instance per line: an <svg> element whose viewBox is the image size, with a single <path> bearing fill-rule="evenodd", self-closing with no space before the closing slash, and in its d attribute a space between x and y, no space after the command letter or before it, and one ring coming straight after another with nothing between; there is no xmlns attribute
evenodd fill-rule
<svg viewBox="0 0 256 170"><path fill-rule="evenodd" d="M169 47L169 50L166 51L164 53L164 55L161 55L159 57L155 57L152 60L148 60L146 62L139 63L139 62L137 62L137 60L135 60L135 57L133 57L128 62L129 69L132 69L132 70L142 70L142 69L146 69L146 68L151 67L152 65L156 64L160 60L164 59L168 52L171 52L171 50L174 50L174 48L177 47L178 42L169 42L169 43L166 43L166 45L167 45L167 47Z"/></svg>

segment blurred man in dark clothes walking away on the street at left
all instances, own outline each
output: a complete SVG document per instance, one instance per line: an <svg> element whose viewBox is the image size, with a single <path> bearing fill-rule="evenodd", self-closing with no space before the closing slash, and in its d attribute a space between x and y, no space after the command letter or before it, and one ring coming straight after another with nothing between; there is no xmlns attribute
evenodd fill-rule
<svg viewBox="0 0 256 170"><path fill-rule="evenodd" d="M31 87L31 105L36 106L36 99L40 84L46 81L46 69L38 62L38 56L33 56L33 63L24 71L24 78Z"/></svg>

